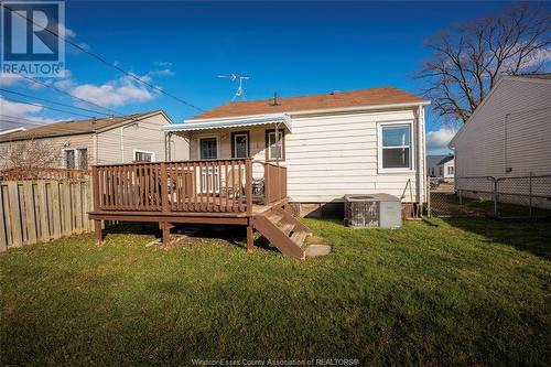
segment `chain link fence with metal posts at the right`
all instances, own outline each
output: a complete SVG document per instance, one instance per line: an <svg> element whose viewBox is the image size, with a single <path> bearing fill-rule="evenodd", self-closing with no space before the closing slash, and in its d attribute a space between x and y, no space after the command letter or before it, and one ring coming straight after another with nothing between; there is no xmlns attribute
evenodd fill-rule
<svg viewBox="0 0 551 367"><path fill-rule="evenodd" d="M429 216L551 218L551 175L429 180Z"/></svg>

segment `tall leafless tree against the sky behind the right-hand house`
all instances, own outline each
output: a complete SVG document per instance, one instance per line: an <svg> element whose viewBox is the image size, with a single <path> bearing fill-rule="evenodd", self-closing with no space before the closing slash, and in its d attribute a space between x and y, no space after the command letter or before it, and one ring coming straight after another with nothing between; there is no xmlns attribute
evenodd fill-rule
<svg viewBox="0 0 551 367"><path fill-rule="evenodd" d="M433 110L464 123L501 75L541 72L551 58L545 10L519 3L429 40L433 54L419 76L429 82L424 94Z"/></svg>

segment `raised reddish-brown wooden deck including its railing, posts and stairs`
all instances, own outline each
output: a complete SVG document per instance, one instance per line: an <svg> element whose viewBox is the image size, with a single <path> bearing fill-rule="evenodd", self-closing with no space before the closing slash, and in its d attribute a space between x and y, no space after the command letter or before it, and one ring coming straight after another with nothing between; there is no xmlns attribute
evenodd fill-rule
<svg viewBox="0 0 551 367"><path fill-rule="evenodd" d="M303 258L307 230L281 212L288 207L287 168L261 164L261 180L252 179L251 159L94 166L89 218L96 239L104 241L102 220L159 223L164 246L174 224L244 225L248 250L257 229L282 252Z"/></svg>

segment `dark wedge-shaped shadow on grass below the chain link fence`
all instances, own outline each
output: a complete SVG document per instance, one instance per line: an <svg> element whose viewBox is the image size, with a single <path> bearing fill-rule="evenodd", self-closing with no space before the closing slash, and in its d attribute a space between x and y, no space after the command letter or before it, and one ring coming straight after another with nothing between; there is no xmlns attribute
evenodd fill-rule
<svg viewBox="0 0 551 367"><path fill-rule="evenodd" d="M443 218L451 226L509 245L545 260L551 259L551 222L497 220L473 217Z"/></svg>

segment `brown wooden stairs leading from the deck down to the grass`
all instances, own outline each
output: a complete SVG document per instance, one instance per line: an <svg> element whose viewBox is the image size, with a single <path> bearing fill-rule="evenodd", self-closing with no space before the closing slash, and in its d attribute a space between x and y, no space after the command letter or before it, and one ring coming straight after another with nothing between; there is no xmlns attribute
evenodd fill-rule
<svg viewBox="0 0 551 367"><path fill-rule="evenodd" d="M306 237L312 235L312 230L289 212L274 207L256 215L252 226L281 253L296 259L305 258L304 242Z"/></svg>

